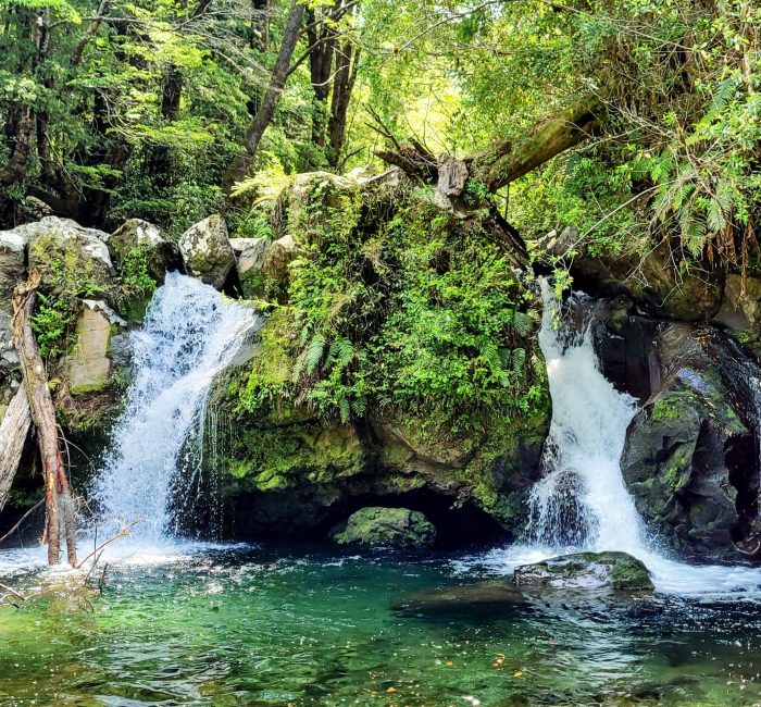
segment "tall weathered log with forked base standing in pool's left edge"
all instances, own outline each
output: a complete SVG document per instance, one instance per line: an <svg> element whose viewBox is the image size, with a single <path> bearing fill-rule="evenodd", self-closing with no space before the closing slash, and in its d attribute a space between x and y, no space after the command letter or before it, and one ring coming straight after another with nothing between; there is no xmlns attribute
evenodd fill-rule
<svg viewBox="0 0 761 707"><path fill-rule="evenodd" d="M13 339L21 360L24 388L29 402L32 420L37 430L37 439L45 474L45 501L47 523L45 536L48 542L48 563L57 565L61 555L61 521L66 538L68 563L76 567L75 512L68 479L63 468L59 446L55 408L48 387L48 376L39 355L37 340L32 332L30 317L37 298L40 272L34 269L29 280L16 287L13 294Z"/></svg>

